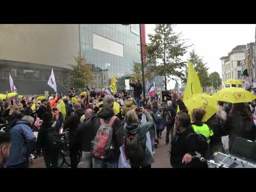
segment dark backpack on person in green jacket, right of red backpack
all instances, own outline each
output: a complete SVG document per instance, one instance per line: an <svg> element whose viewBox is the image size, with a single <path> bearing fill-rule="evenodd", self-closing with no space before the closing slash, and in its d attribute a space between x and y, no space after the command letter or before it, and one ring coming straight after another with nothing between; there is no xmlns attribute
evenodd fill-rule
<svg viewBox="0 0 256 192"><path fill-rule="evenodd" d="M131 164L141 164L145 158L145 149L141 144L139 129L138 127L135 134L129 134L125 137L125 152Z"/></svg>

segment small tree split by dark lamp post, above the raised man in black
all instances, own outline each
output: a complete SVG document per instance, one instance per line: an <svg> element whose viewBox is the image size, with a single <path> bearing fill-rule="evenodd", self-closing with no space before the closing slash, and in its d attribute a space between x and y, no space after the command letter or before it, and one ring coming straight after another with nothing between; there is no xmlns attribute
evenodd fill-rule
<svg viewBox="0 0 256 192"><path fill-rule="evenodd" d="M149 62L143 62L144 66L144 75L145 75L145 81L150 81L154 78L154 71L151 71L149 67ZM127 76L128 78L135 81L135 79L139 79L140 82L142 82L142 70L141 70L141 63L133 63L132 66L132 73Z"/></svg>

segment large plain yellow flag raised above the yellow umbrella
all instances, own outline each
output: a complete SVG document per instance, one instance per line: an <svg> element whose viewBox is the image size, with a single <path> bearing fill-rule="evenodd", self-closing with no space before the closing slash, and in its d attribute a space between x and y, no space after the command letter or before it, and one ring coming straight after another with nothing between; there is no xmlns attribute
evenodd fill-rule
<svg viewBox="0 0 256 192"><path fill-rule="evenodd" d="M187 100L196 93L203 93L201 89L201 84L196 74L196 70L191 65L190 61L188 60L188 79L186 84L186 89L184 91L183 100Z"/></svg>

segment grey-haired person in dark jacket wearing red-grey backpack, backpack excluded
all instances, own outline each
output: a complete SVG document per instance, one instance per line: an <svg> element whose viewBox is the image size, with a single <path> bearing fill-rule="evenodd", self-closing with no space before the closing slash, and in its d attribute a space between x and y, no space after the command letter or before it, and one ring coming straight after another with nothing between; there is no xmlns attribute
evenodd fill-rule
<svg viewBox="0 0 256 192"><path fill-rule="evenodd" d="M124 143L124 128L121 120L116 118L114 115L113 107L114 107L115 98L113 95L106 95L103 98L103 108L97 114L97 118L93 120L93 128L94 128L94 137L99 130L101 125L100 119L103 119L103 122L109 123L110 120L113 121L113 135L111 137L113 143L113 153L111 156L107 158L100 159L95 157L94 167L95 168L117 168L118 167L118 158L120 155L119 148ZM115 118L115 119L114 119Z"/></svg>

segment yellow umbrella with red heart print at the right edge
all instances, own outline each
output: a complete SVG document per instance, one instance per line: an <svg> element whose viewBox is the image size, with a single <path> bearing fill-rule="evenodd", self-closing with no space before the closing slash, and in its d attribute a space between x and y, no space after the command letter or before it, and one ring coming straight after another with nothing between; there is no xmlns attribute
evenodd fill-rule
<svg viewBox="0 0 256 192"><path fill-rule="evenodd" d="M217 93L214 93L214 98L218 101L230 102L230 103L242 103L252 102L256 99L256 96L246 91L245 89L238 87L227 87Z"/></svg>

